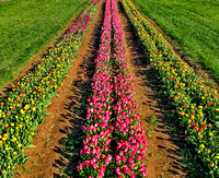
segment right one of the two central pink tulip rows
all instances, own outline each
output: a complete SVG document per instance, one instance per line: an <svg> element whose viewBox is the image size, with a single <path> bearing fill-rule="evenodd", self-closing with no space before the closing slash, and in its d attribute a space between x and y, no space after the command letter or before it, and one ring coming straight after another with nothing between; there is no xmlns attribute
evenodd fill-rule
<svg viewBox="0 0 219 178"><path fill-rule="evenodd" d="M138 105L135 103L134 80L127 74L128 63L126 58L126 47L124 41L124 31L118 17L115 0L112 1L113 31L114 31L114 58L118 69L114 78L114 88L116 105L114 112L116 116L116 174L123 177L147 176L145 167L147 141L145 130L141 129L143 122L139 121Z"/></svg>

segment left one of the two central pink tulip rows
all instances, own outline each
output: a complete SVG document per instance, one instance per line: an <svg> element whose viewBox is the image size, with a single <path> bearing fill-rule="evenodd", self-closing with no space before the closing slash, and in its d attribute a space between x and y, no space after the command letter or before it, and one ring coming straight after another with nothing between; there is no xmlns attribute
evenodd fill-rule
<svg viewBox="0 0 219 178"><path fill-rule="evenodd" d="M101 45L92 82L92 97L88 98L87 123L82 127L85 133L84 146L81 150L82 163L78 166L81 177L102 178L111 171L111 141L114 127L111 121L112 88L111 84L111 0L105 4L105 17L102 27Z"/></svg>

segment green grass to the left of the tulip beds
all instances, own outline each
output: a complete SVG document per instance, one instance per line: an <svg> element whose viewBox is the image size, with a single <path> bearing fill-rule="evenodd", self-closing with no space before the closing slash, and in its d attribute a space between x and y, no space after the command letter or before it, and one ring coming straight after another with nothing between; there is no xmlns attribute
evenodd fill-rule
<svg viewBox="0 0 219 178"><path fill-rule="evenodd" d="M0 2L0 87L39 52L90 0Z"/></svg>

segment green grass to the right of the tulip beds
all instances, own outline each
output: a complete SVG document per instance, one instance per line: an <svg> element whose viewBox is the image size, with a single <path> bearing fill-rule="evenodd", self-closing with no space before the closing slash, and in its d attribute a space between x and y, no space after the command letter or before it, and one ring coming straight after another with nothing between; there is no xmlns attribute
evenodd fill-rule
<svg viewBox="0 0 219 178"><path fill-rule="evenodd" d="M219 83L219 0L134 0Z"/></svg>

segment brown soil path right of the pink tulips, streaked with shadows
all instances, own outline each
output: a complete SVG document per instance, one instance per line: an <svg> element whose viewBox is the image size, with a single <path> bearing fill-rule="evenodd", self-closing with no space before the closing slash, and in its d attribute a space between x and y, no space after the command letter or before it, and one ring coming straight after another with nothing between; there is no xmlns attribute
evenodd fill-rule
<svg viewBox="0 0 219 178"><path fill-rule="evenodd" d="M146 135L148 141L148 161L147 170L149 178L158 177L185 177L185 173L180 163L178 146L174 144L172 135L169 135L165 129L164 112L159 107L155 99L155 93L152 90L151 82L147 78L149 73L149 59L146 58L143 49L137 40L134 27L128 17L125 15L124 9L119 0L117 0L119 10L119 19L125 32L126 47L128 54L129 73L135 80L136 103L139 105L139 114L146 122ZM152 127L149 118L155 116L159 124Z"/></svg>

